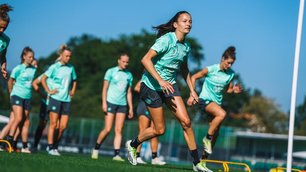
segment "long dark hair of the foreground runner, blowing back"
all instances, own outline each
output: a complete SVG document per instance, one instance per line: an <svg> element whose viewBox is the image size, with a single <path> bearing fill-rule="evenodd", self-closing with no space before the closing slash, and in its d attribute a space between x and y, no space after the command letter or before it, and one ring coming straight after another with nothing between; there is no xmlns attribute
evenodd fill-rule
<svg viewBox="0 0 306 172"><path fill-rule="evenodd" d="M170 19L167 23L158 25L156 27L152 26L152 29L158 32L157 33L157 38L159 38L160 36L162 36L162 35L164 35L168 32L174 32L175 28L173 26L173 23L178 22L178 19L179 19L180 15L185 14L185 13L189 14L189 12L187 12L187 11L180 11L180 12L176 13L172 17L172 19Z"/></svg>

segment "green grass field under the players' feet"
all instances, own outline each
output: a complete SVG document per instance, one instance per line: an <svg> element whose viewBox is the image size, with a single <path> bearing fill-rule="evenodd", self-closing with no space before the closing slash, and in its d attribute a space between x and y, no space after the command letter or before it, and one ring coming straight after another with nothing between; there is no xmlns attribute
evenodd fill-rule
<svg viewBox="0 0 306 172"><path fill-rule="evenodd" d="M218 172L219 169L212 169ZM93 160L89 155L63 154L51 156L45 152L37 154L0 152L0 172L192 172L192 166L170 165L132 166L126 162L115 162L110 157ZM244 172L230 170L230 172Z"/></svg>

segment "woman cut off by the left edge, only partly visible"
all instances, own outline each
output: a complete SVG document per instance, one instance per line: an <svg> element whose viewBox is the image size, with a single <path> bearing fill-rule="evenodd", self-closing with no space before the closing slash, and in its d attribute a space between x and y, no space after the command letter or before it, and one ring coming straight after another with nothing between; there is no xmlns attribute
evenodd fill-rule
<svg viewBox="0 0 306 172"><path fill-rule="evenodd" d="M13 11L11 6L7 4L0 5L0 65L1 65L1 73L5 79L7 78L6 51L10 39L3 32L5 31L9 23L9 16L7 14L7 12L9 11Z"/></svg>

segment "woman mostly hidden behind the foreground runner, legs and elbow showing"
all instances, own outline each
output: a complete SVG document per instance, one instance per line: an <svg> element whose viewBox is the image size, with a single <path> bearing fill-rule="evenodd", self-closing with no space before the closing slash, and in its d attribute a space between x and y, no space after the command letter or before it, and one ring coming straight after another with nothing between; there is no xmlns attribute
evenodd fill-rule
<svg viewBox="0 0 306 172"><path fill-rule="evenodd" d="M138 92L140 91L140 82L141 80L136 84L134 91ZM138 125L139 125L139 134L142 133L146 128L149 128L150 126L153 126L153 122L151 121L151 117L149 115L149 112L147 110L146 104L141 99L139 100L138 106L137 106L137 115L138 115ZM142 144L140 144L137 147L136 151L136 157L137 157L137 163L138 164L147 164L145 161L142 160L140 157L140 150L141 150ZM157 157L157 146L158 146L158 137L155 137L151 139L151 150L152 150L152 164L153 165L165 165L166 162L161 161Z"/></svg>

